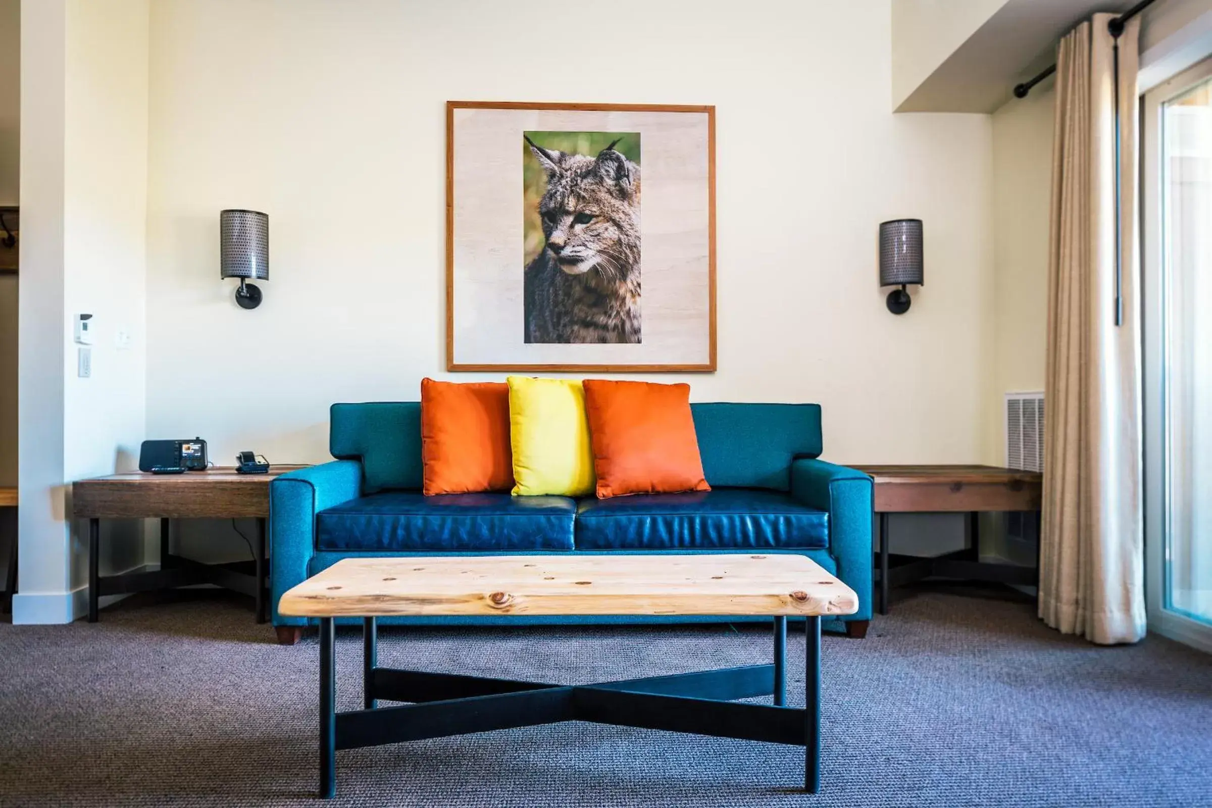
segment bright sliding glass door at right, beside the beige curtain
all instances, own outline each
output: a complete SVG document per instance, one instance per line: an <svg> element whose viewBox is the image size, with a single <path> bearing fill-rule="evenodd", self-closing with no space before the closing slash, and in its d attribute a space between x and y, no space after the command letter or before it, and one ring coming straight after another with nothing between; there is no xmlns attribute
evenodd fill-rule
<svg viewBox="0 0 1212 808"><path fill-rule="evenodd" d="M1144 102L1149 628L1212 651L1212 59Z"/></svg>

